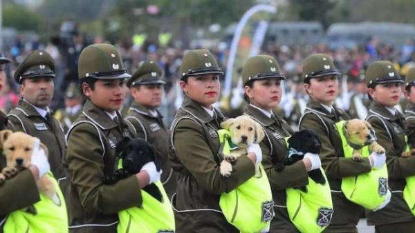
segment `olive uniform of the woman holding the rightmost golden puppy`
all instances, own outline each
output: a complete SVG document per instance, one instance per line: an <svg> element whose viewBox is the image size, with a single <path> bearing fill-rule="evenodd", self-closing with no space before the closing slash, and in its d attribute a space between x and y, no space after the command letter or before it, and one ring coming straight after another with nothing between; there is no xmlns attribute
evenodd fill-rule
<svg viewBox="0 0 415 233"><path fill-rule="evenodd" d="M360 162L344 158L342 142L335 123L348 120L349 116L337 108L335 114L336 116L311 99L300 120L299 130L313 130L322 142L320 159L329 180L334 210L331 223L324 232L356 232L361 207L349 201L342 193L342 178L370 172L371 166L367 158Z"/></svg>

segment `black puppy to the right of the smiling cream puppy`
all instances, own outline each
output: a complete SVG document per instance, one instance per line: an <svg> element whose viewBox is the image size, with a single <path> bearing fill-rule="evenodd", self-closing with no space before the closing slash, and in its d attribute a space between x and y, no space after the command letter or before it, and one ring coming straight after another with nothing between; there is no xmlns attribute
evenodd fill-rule
<svg viewBox="0 0 415 233"><path fill-rule="evenodd" d="M276 166L278 171L284 170L284 166L291 165L299 160L304 158L304 154L313 153L320 154L322 149L322 144L320 138L313 130L300 130L295 132L288 139L288 154L283 161L277 163ZM308 177L310 177L315 183L325 184L326 179L320 169L312 170L308 172ZM307 192L306 187L300 188L302 191Z"/></svg>

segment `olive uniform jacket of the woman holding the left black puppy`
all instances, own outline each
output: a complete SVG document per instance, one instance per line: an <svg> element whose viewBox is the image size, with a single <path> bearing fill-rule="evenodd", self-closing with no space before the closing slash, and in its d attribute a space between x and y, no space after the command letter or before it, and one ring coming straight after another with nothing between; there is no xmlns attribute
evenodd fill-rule
<svg viewBox="0 0 415 233"><path fill-rule="evenodd" d="M118 212L141 205L135 175L113 185L102 183L104 176L116 170L117 143L122 136L134 136L125 126L86 101L69 130L66 160L71 180L67 194L71 232L116 232Z"/></svg>

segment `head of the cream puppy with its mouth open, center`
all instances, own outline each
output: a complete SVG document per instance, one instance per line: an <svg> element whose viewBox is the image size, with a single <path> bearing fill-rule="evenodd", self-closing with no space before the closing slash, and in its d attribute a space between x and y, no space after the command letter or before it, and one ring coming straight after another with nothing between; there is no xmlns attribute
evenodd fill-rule
<svg viewBox="0 0 415 233"><path fill-rule="evenodd" d="M239 116L223 121L221 128L229 130L232 143L241 147L246 147L246 145L252 143L259 143L265 136L261 125L248 116Z"/></svg>

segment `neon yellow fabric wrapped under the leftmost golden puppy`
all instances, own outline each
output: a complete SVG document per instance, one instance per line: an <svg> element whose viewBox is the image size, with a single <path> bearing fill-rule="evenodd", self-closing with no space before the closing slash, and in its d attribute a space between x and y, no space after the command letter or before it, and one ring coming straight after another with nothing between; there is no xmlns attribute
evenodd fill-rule
<svg viewBox="0 0 415 233"><path fill-rule="evenodd" d="M40 201L33 204L37 214L26 212L26 209L16 210L8 215L3 227L5 233L65 233L68 232L68 213L64 195L51 172L46 174L53 181L59 205L55 204L44 194L40 194Z"/></svg>

